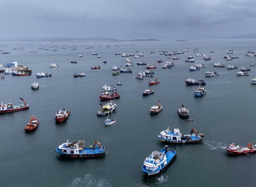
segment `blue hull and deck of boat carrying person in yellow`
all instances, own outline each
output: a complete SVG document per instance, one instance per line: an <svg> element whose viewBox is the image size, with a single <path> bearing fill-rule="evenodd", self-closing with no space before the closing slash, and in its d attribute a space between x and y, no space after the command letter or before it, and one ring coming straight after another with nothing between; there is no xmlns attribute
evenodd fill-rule
<svg viewBox="0 0 256 187"><path fill-rule="evenodd" d="M99 147L95 148L93 151L93 148L84 148L83 150L79 151L79 154L68 154L64 153L62 149L55 149L55 152L60 153L63 156L67 157L77 157L77 158L82 158L82 157L99 157L103 156L105 154L105 147L102 147L100 150Z"/></svg>

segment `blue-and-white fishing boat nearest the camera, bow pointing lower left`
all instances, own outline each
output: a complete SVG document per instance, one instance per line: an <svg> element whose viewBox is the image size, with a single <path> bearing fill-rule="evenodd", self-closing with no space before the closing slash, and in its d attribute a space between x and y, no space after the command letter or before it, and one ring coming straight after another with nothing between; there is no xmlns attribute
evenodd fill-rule
<svg viewBox="0 0 256 187"><path fill-rule="evenodd" d="M147 175L154 175L165 170L176 157L177 153L165 145L160 151L153 151L146 157L142 171Z"/></svg>

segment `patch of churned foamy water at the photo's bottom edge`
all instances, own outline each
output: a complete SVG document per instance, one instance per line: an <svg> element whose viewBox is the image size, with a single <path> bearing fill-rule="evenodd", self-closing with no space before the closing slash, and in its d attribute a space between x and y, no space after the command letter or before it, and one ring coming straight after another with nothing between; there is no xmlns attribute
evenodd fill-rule
<svg viewBox="0 0 256 187"><path fill-rule="evenodd" d="M76 178L71 183L70 187L76 186L97 186L97 187L110 187L111 185L105 179L98 179L94 174L86 174L83 178Z"/></svg>

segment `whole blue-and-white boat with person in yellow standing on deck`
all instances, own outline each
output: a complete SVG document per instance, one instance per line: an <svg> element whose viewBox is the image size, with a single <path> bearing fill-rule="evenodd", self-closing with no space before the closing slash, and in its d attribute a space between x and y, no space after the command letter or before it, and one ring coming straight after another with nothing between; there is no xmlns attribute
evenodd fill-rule
<svg viewBox="0 0 256 187"><path fill-rule="evenodd" d="M99 147L96 147L99 144ZM60 153L62 156L75 157L75 158L90 158L99 157L105 154L105 147L101 143L95 141L93 147L86 147L84 140L78 142L67 142L55 149L55 152Z"/></svg>

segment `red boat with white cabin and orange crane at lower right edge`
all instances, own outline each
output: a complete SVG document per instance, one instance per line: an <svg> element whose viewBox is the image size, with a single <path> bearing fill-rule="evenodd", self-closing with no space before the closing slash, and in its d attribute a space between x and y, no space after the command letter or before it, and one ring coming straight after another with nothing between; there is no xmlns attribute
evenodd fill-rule
<svg viewBox="0 0 256 187"><path fill-rule="evenodd" d="M241 155L241 154L250 154L256 152L256 145L249 143L248 145L236 145L234 143L226 147L226 150L229 154Z"/></svg>

